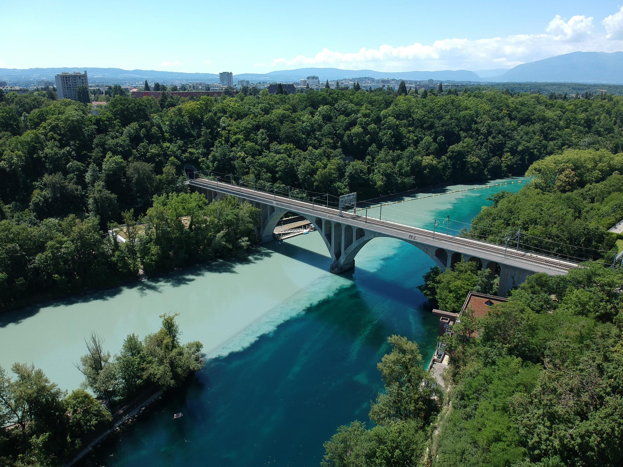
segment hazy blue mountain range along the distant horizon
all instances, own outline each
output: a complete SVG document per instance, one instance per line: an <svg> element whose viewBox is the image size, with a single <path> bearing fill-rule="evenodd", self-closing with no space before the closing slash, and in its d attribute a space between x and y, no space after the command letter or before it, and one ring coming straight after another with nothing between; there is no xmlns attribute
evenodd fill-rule
<svg viewBox="0 0 623 467"><path fill-rule="evenodd" d="M218 82L215 73L179 73L156 70L121 70L121 68L28 68L17 70L0 68L0 80L10 84L34 84L42 78L53 78L64 71L87 70L89 82L109 84L131 84L148 82ZM348 78L395 78L406 80L458 81L458 82L568 82L568 83L609 83L623 84L623 52L573 52L557 55L549 59L517 65L510 70L442 70L434 72L377 72L374 70L340 70L340 68L298 68L278 70L270 73L240 73L237 80L251 82L293 82L310 75L320 77L320 81L342 80Z"/></svg>

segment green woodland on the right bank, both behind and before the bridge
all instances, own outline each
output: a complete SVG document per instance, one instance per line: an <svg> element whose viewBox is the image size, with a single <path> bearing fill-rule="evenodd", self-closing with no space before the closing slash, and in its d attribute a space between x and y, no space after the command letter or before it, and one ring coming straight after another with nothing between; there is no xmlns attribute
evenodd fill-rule
<svg viewBox="0 0 623 467"><path fill-rule="evenodd" d="M571 242L607 248L616 235L606 227L623 217L622 163L623 154L604 150L568 150L536 161L526 172L531 181L516 194L495 194L467 234L493 237L521 228L532 239L525 240L528 247L541 245L536 238L543 237L558 242L560 253L569 252ZM384 410L394 414L390 423L407 420L409 428L400 436L386 433L393 425L377 420L373 406L369 417L378 426L340 427L325 443L323 465L620 465L623 270L603 262L581 265L563 276L529 276L483 318L463 313L454 334L442 337L450 357L443 405L429 375L422 370L412 377L401 364L394 380L415 381L418 389L400 392L386 384L379 400L391 405ZM431 268L419 289L434 306L458 313L469 291L496 293L497 278L475 262L459 262L444 272ZM423 399L439 403L437 410L404 417L402 407L422 406Z"/></svg>

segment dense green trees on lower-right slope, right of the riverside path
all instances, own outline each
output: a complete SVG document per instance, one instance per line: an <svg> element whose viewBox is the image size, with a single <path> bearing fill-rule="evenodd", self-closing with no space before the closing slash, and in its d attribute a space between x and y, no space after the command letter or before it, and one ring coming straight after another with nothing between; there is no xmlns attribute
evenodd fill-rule
<svg viewBox="0 0 623 467"><path fill-rule="evenodd" d="M455 325L432 465L620 465L623 274L585 266L530 276L508 303Z"/></svg>

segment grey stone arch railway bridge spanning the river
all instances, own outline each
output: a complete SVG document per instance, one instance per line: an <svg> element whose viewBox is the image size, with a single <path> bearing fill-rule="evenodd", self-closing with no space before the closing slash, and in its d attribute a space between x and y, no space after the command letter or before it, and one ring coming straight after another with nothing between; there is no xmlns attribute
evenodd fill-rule
<svg viewBox="0 0 623 467"><path fill-rule="evenodd" d="M559 258L506 249L495 243L454 237L388 220L364 218L350 212L340 215L337 209L226 182L196 178L189 179L188 184L191 189L204 194L209 202L230 194L247 200L260 209L260 225L256 226L256 230L262 241L273 239L277 222L287 212L302 215L320 232L333 260L330 267L333 273L354 268L354 260L359 250L376 237L398 238L411 243L426 253L442 270L452 267L463 258L475 261L492 273L499 273L499 295L506 295L510 288L520 285L527 276L535 272L561 275L578 267L576 263Z"/></svg>

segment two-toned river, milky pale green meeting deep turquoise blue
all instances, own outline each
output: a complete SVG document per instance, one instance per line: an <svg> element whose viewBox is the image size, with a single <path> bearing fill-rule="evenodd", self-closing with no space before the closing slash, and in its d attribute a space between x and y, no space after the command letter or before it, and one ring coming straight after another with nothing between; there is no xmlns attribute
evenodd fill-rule
<svg viewBox="0 0 623 467"><path fill-rule="evenodd" d="M520 189L517 180L417 194L445 193L383 206L383 219L432 229L432 218L450 215L450 229L461 229L488 196ZM299 235L266 243L244 261L6 313L0 365L34 362L70 390L82 380L74 362L92 330L115 352L127 334L153 332L159 314L178 311L182 340L204 343L206 366L87 464L317 466L338 426L369 421L369 402L383 387L376 363L387 337L417 341L426 361L437 341L436 320L416 289L433 265L423 252L376 238L354 271L333 275L330 262L320 235ZM173 420L176 412L184 416Z"/></svg>

